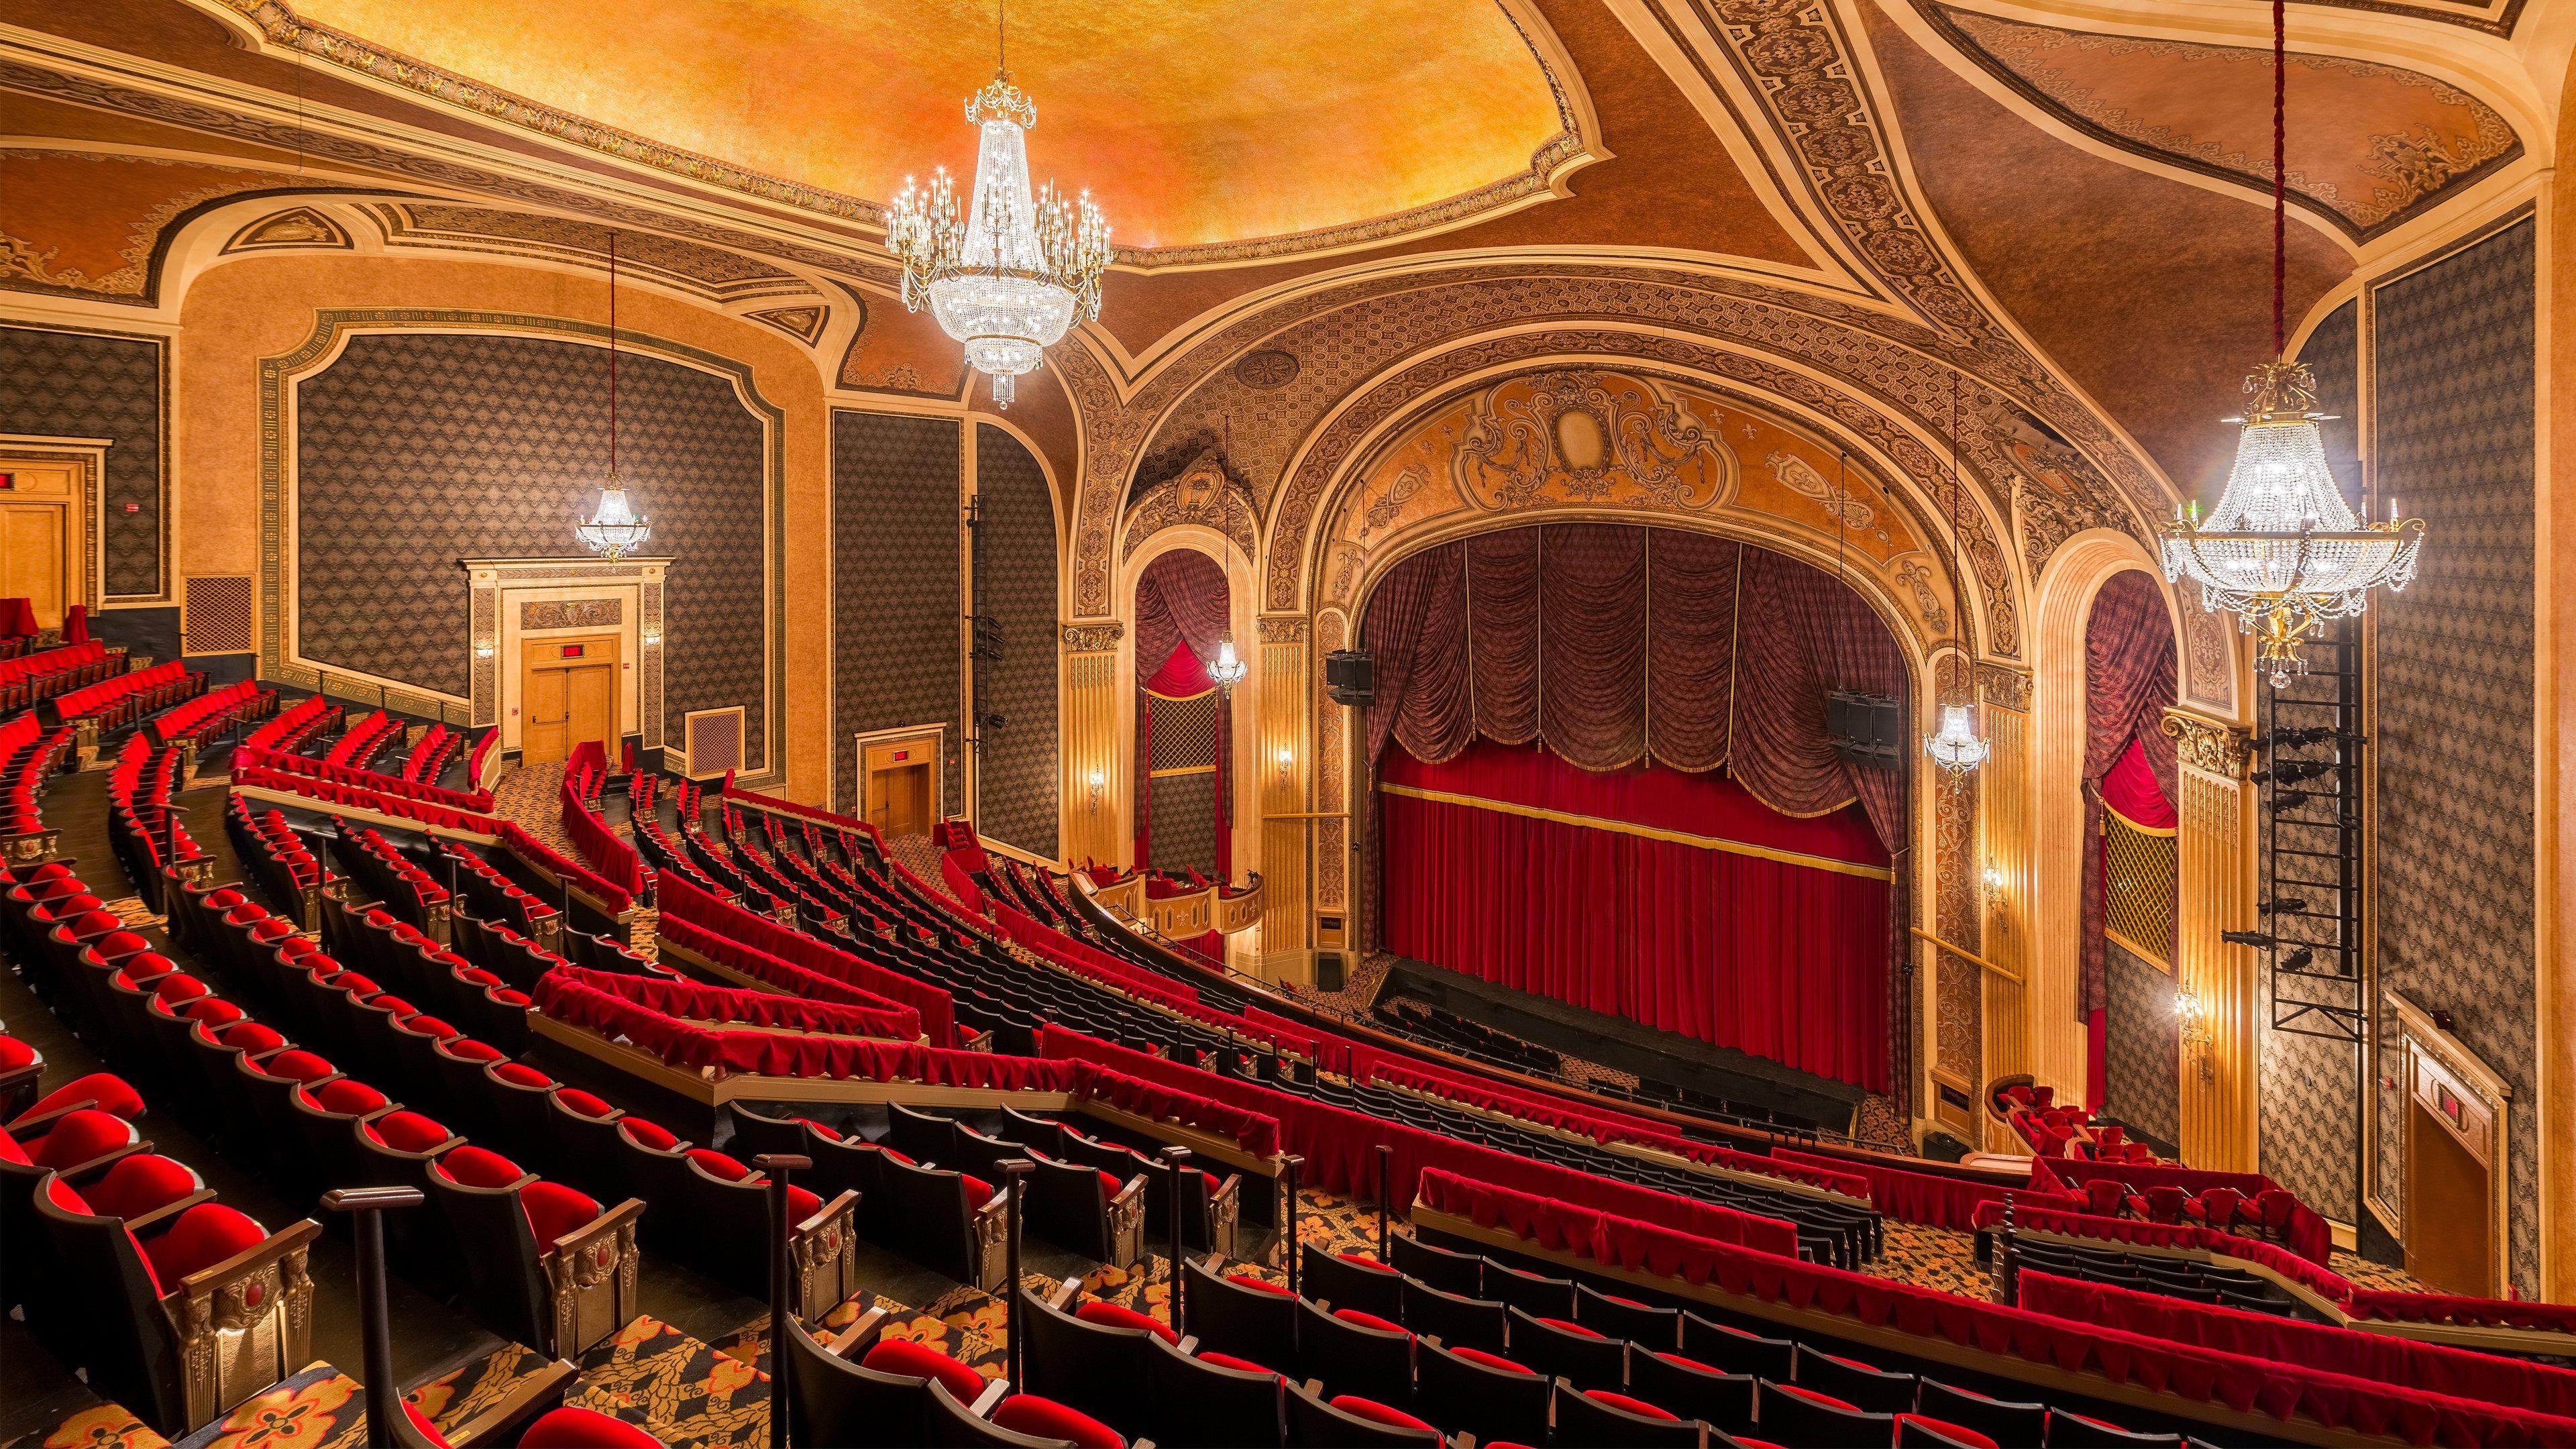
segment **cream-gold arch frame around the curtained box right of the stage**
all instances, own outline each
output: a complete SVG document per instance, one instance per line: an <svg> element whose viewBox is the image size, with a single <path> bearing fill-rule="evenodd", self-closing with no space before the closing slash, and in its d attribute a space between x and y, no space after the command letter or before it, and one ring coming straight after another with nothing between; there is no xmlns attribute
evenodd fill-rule
<svg viewBox="0 0 2576 1449"><path fill-rule="evenodd" d="M2190 652L2182 632L2182 601L2164 583L2156 559L2136 539L2115 529L2087 529L2066 539L2040 575L2040 608L2032 619L2030 681L2030 920L2027 1006L2030 1075L2058 1088L2063 1101L2084 1096L2084 1021L2076 1016L2081 993L2084 933L2084 699L2087 650L2102 585L2123 572L2156 580L2166 627L2174 632L2177 660ZM2179 681L2179 673L2177 673ZM2177 688L2179 696L2179 688Z"/></svg>

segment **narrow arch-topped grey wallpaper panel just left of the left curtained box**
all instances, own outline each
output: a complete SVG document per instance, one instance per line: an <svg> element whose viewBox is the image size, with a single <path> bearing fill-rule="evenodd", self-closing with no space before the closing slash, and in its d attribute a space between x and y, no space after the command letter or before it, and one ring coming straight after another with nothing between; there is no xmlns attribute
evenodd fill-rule
<svg viewBox="0 0 2576 1449"><path fill-rule="evenodd" d="M974 431L976 614L999 627L1002 657L976 660L976 706L987 722L976 761L976 825L1054 859L1056 853L1056 495L1038 459L1007 431ZM999 714L1002 724L989 717Z"/></svg>

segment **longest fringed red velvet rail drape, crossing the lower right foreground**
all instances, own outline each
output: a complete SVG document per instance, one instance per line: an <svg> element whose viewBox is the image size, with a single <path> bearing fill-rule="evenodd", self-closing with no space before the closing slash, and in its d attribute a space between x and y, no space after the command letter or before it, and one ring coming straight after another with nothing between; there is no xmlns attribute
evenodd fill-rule
<svg viewBox="0 0 2576 1449"><path fill-rule="evenodd" d="M1821 1263L1747 1253L1739 1245L1692 1238L1654 1222L1613 1214L1584 1217L1566 1212L1561 1201L1548 1201L1548 1194L1522 1194L1448 1171L1422 1173L1419 1201L1479 1227L1520 1232L1512 1222L1528 1222L1533 1230L1553 1232L1564 1243L1556 1250L1589 1256L1605 1266L1716 1287L1806 1312L1842 1315L1870 1328L1945 1338L2069 1374L2102 1374L2120 1385L2215 1403L2236 1413L2267 1413L2280 1421L2308 1418L2326 1428L2352 1428L2409 1444L2576 1446L2576 1418L2535 1408L2481 1403L2311 1364L2174 1343ZM1538 1232L1522 1235L1538 1238Z"/></svg>

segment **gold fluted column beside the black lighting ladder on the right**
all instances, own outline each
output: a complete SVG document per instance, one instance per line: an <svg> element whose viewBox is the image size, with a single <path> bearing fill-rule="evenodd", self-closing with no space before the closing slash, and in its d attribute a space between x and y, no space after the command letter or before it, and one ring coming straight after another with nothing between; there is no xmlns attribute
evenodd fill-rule
<svg viewBox="0 0 2576 1449"><path fill-rule="evenodd" d="M2254 861L2246 735L2169 709L2164 732L2179 761L2174 838L2177 990L2200 1003L2205 1031L2182 1044L2182 1160L2228 1173L2257 1171L2257 959L2226 931L2254 926Z"/></svg>

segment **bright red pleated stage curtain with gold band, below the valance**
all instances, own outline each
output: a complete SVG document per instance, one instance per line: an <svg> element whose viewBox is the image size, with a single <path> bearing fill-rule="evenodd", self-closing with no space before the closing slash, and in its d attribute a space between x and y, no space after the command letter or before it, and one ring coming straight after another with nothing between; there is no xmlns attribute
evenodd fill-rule
<svg viewBox="0 0 2576 1449"><path fill-rule="evenodd" d="M1857 810L1780 815L1723 776L1587 773L1540 748L1396 750L1391 786L1886 866ZM1888 882L1383 794L1386 946L1517 990L1888 1088Z"/></svg>

